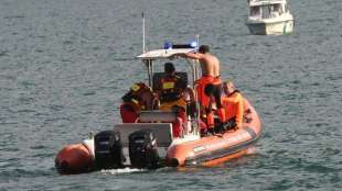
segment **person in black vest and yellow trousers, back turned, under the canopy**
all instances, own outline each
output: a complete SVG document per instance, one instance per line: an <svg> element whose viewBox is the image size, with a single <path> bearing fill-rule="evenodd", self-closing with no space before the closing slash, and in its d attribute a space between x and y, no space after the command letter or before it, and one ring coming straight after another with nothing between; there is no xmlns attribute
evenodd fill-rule
<svg viewBox="0 0 342 191"><path fill-rule="evenodd" d="M159 81L157 90L160 101L159 110L173 111L177 120L172 122L173 136L180 137L182 133L182 124L186 120L184 100L184 90L186 82L178 75L172 63L164 64L164 76Z"/></svg>

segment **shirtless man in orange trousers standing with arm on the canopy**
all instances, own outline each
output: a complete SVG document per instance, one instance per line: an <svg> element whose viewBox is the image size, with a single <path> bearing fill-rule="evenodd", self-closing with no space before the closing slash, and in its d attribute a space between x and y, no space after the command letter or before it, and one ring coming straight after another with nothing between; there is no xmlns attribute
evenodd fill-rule
<svg viewBox="0 0 342 191"><path fill-rule="evenodd" d="M206 117L207 128L213 131L215 126L211 100L215 100L221 123L226 123L224 108L221 102L222 81L220 77L220 61L215 56L210 54L210 47L207 45L201 45L197 53L181 53L174 56L197 59L200 61L202 77L196 81L196 90L202 110L205 111L204 115ZM211 97L206 96L204 91L207 85L213 85L214 88Z"/></svg>

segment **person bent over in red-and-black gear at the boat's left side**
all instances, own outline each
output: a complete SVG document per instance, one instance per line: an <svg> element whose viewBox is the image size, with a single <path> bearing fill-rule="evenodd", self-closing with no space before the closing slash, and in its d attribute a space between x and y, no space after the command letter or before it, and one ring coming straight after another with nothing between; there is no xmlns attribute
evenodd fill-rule
<svg viewBox="0 0 342 191"><path fill-rule="evenodd" d="M140 111L153 108L153 93L143 82L135 83L121 99L122 123L136 123Z"/></svg>

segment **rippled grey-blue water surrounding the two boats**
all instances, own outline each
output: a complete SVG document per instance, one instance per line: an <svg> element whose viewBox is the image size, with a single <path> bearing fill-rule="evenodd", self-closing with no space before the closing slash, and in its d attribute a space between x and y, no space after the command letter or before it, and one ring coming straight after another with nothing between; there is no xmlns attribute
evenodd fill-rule
<svg viewBox="0 0 342 191"><path fill-rule="evenodd" d="M242 0L1 0L0 190L341 190L342 1L289 1L295 33L250 35ZM60 176L56 153L119 122L147 46L200 34L264 124L216 168Z"/></svg>

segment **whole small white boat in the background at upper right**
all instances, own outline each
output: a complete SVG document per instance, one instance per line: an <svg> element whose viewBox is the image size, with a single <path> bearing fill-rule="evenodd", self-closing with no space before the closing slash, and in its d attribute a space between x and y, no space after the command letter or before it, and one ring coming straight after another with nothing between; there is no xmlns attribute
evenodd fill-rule
<svg viewBox="0 0 342 191"><path fill-rule="evenodd" d="M246 22L252 34L280 35L293 32L293 15L286 0L248 0Z"/></svg>

